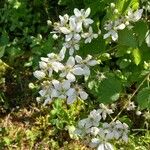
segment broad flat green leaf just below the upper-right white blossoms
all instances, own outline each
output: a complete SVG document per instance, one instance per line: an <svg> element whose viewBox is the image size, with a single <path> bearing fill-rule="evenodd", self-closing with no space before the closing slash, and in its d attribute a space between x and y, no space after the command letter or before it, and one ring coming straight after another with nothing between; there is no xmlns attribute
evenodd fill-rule
<svg viewBox="0 0 150 150"><path fill-rule="evenodd" d="M133 48L136 48L138 46L133 30L128 29L119 31L118 43L120 45L126 45Z"/></svg>

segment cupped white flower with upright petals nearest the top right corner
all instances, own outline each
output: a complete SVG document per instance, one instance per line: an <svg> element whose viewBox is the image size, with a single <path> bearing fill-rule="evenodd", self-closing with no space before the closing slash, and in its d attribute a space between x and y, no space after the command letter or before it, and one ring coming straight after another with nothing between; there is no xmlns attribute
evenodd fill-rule
<svg viewBox="0 0 150 150"><path fill-rule="evenodd" d="M143 9L139 9L135 12L133 12L132 9L129 9L126 18L131 22L137 22L138 20L141 19L142 13L143 13Z"/></svg>

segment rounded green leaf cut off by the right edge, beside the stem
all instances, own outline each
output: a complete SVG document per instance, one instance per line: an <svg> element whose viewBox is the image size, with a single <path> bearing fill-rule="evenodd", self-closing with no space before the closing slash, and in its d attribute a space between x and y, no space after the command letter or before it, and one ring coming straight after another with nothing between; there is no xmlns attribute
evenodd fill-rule
<svg viewBox="0 0 150 150"><path fill-rule="evenodd" d="M138 93L137 102L141 109L150 109L150 87L143 88Z"/></svg>

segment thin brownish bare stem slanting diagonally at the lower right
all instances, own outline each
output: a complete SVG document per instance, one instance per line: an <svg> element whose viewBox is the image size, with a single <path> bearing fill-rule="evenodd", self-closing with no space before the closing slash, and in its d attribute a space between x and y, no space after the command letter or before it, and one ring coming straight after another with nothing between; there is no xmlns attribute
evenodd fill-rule
<svg viewBox="0 0 150 150"><path fill-rule="evenodd" d="M134 93L131 95L131 97L129 98L128 101L131 101L131 99L135 96L135 94L139 91L140 87L143 85L143 83L149 78L150 73L148 73L148 75L143 79L143 81L140 83L140 85L137 87L137 89L134 91ZM128 103L126 103L124 105L124 107L121 109L121 111L117 114L117 116L111 121L114 122L119 116L120 114L123 112L123 110L127 107Z"/></svg>

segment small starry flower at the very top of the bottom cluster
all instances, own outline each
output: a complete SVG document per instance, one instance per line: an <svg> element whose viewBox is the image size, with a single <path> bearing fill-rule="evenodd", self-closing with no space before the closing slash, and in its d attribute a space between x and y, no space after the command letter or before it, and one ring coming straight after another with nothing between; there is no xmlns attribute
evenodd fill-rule
<svg viewBox="0 0 150 150"><path fill-rule="evenodd" d="M99 112L101 113L103 120L106 119L107 114L110 115L113 113L112 109L107 108L103 103L100 104Z"/></svg>

